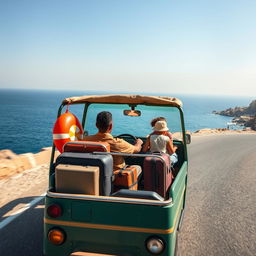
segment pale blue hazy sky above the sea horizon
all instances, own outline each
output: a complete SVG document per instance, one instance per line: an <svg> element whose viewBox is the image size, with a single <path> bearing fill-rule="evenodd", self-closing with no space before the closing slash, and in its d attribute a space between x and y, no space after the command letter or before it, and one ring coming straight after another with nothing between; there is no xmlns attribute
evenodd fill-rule
<svg viewBox="0 0 256 256"><path fill-rule="evenodd" d="M0 88L256 96L255 0L0 0Z"/></svg>

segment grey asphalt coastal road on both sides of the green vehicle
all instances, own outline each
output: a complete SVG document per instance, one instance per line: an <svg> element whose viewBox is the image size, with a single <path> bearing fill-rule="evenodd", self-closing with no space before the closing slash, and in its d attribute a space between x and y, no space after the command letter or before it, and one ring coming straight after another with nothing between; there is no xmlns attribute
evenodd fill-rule
<svg viewBox="0 0 256 256"><path fill-rule="evenodd" d="M179 255L255 256L256 135L192 139ZM0 255L41 256L42 236L43 200L0 229Z"/></svg>

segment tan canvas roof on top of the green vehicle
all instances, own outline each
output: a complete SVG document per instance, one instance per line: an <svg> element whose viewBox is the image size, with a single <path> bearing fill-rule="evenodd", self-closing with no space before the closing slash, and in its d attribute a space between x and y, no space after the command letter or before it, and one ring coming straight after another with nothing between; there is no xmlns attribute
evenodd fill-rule
<svg viewBox="0 0 256 256"><path fill-rule="evenodd" d="M144 95L89 95L71 97L63 100L62 104L79 103L119 103L119 104L145 104L165 105L182 107L182 101L178 98L167 96L144 96Z"/></svg>

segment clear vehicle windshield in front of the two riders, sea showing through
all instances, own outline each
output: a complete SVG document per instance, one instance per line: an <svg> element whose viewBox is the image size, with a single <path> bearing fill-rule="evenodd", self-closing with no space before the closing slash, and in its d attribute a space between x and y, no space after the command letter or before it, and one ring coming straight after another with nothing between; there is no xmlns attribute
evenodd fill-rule
<svg viewBox="0 0 256 256"><path fill-rule="evenodd" d="M151 120L156 117L165 117L168 128L172 133L182 131L180 111L176 107L137 105L135 110L141 112L140 116L124 115L124 110L130 110L128 104L91 104L88 107L85 131L88 135L95 134L96 116L101 111L109 111L113 116L113 136L119 134L132 134L137 137L146 137L152 132Z"/></svg>

